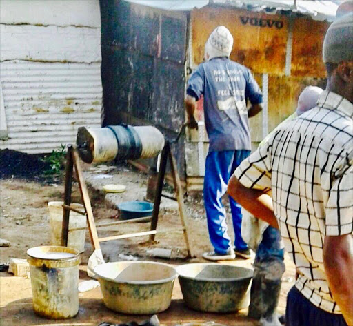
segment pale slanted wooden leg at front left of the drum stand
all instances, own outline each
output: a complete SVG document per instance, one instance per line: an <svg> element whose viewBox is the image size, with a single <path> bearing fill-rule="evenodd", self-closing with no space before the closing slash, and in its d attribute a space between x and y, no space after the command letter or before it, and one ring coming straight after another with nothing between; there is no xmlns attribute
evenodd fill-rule
<svg viewBox="0 0 353 326"><path fill-rule="evenodd" d="M79 154L77 154L76 150L72 150L72 158L74 161L74 167L77 174L77 181L79 182L79 189L81 192L81 196L83 198L83 205L85 206L85 212L87 214L87 222L90 230L90 238L92 241L92 245L94 250L101 249L99 245L99 239L97 234L96 225L94 223L94 217L92 212L92 206L90 202L90 196L88 194L87 186L85 185L85 179L83 178L83 173L81 170Z"/></svg>

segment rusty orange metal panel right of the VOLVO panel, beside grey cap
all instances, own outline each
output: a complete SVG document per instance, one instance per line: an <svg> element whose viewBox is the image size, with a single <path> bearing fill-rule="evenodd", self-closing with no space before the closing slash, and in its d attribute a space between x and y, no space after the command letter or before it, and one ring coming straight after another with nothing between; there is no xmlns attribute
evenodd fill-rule
<svg viewBox="0 0 353 326"><path fill-rule="evenodd" d="M330 23L297 17L294 20L292 75L325 78L322 60L323 39Z"/></svg>

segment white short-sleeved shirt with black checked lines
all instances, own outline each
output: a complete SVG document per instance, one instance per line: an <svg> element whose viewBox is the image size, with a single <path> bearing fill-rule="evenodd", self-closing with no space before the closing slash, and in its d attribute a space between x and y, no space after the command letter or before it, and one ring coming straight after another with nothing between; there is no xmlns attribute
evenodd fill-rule
<svg viewBox="0 0 353 326"><path fill-rule="evenodd" d="M317 107L279 128L234 172L245 187L272 190L296 287L316 307L340 314L323 267L325 235L353 233L353 104L324 91Z"/></svg>

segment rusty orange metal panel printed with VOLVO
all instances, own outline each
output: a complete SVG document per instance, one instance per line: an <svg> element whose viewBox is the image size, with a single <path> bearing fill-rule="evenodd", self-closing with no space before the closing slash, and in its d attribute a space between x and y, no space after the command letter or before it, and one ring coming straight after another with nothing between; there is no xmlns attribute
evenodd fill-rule
<svg viewBox="0 0 353 326"><path fill-rule="evenodd" d="M219 25L234 37L232 60L253 72L284 74L288 17L221 7L191 12L192 68L203 62L205 42Z"/></svg>

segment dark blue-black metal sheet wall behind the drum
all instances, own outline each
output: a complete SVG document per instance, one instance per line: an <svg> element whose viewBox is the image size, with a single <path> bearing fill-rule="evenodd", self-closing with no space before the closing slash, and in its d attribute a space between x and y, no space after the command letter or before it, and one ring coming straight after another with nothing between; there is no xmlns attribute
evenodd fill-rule
<svg viewBox="0 0 353 326"><path fill-rule="evenodd" d="M186 14L124 1L100 3L103 126L157 125L174 139L185 119ZM183 144L173 149L183 178Z"/></svg>

